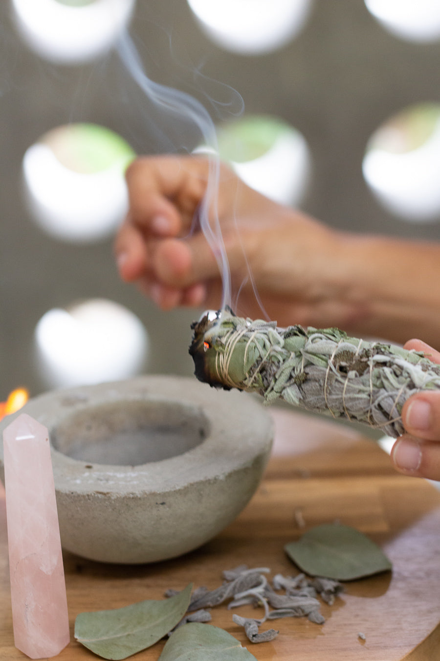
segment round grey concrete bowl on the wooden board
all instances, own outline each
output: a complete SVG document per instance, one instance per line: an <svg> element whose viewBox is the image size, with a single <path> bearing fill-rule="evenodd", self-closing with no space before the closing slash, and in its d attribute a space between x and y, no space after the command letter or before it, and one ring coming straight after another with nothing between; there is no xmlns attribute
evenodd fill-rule
<svg viewBox="0 0 440 661"><path fill-rule="evenodd" d="M51 391L19 413L49 430L63 548L107 563L195 549L232 522L263 476L272 420L246 393L145 376ZM3 473L3 444L0 444Z"/></svg>

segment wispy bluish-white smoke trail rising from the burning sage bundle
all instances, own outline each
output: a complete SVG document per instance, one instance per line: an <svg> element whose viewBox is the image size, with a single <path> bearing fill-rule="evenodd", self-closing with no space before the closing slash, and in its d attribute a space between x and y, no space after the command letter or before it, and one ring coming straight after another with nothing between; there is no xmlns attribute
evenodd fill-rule
<svg viewBox="0 0 440 661"><path fill-rule="evenodd" d="M208 148L208 181L206 192L199 210L199 222L206 241L216 258L223 284L222 309L231 305L232 288L228 256L224 247L220 221L218 219L218 186L220 180L220 161L214 122L204 106L191 95L155 83L144 71L139 53L129 34L121 36L117 46L123 64L133 77L133 80L144 92L146 97L176 122L189 122L195 126ZM210 222L211 217L211 222Z"/></svg>

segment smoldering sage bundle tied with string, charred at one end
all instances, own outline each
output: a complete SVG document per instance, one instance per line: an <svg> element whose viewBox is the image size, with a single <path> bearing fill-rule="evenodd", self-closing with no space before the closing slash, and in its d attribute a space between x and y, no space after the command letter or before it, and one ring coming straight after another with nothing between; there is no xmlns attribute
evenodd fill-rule
<svg viewBox="0 0 440 661"><path fill-rule="evenodd" d="M404 432L405 401L440 389L440 365L423 354L366 342L338 329L278 328L228 310L206 313L192 326L195 375L215 387L255 391L317 413Z"/></svg>

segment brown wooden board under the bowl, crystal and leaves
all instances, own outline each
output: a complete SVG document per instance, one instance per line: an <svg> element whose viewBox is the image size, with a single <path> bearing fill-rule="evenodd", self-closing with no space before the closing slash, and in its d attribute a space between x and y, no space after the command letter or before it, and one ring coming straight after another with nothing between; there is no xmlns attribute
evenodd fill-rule
<svg viewBox="0 0 440 661"><path fill-rule="evenodd" d="M73 639L80 611L160 599L188 582L212 589L222 570L237 564L267 566L270 576L296 574L284 544L313 525L340 521L375 540L393 572L346 584L327 618L279 619L274 641L252 644L226 606L212 609L212 624L234 635L258 661L440 660L440 492L421 479L397 475L389 457L358 431L322 418L272 409L274 452L265 480L247 508L216 539L184 557L141 566L99 564L65 554L72 641L57 659L97 657ZM236 610L260 617L260 609ZM262 629L265 629L263 625ZM365 641L358 637L365 635ZM156 661L164 642L135 654ZM408 655L408 656L406 656ZM5 525L0 496L0 660L27 658L14 647Z"/></svg>

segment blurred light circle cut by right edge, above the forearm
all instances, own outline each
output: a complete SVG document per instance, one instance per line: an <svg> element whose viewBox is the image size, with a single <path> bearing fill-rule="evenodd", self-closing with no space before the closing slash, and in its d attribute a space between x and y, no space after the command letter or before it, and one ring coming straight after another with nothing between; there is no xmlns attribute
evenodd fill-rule
<svg viewBox="0 0 440 661"><path fill-rule="evenodd" d="M381 204L408 221L440 217L440 104L410 106L371 137L365 181Z"/></svg>

